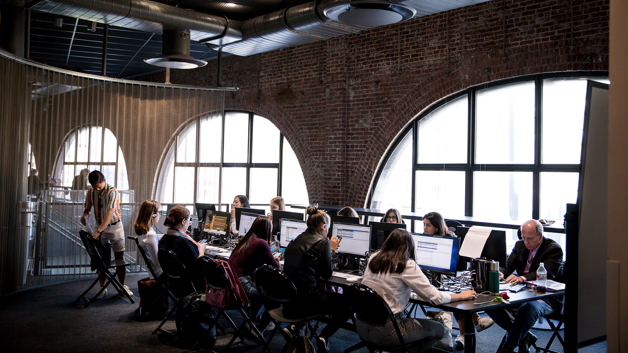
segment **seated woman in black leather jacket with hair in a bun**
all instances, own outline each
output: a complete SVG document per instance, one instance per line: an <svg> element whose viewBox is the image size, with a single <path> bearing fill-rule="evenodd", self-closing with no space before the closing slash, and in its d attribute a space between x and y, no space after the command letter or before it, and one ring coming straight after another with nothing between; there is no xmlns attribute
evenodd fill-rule
<svg viewBox="0 0 628 353"><path fill-rule="evenodd" d="M327 239L330 218L317 207L308 207L308 229L292 239L284 254L284 272L295 283L298 292L294 300L284 305L286 318L303 318L315 315L332 315L317 341L318 352L329 351L329 337L351 315L349 302L342 294L324 291L318 278L327 280L333 272L333 255L338 249L338 238Z"/></svg>

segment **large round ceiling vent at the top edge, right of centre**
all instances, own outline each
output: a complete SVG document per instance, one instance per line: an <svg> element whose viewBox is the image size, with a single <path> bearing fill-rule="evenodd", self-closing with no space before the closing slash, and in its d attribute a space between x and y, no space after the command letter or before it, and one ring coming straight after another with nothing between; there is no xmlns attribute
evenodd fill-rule
<svg viewBox="0 0 628 353"><path fill-rule="evenodd" d="M406 21L416 14L416 10L386 0L357 0L332 5L323 10L323 13L328 18L340 23L376 27Z"/></svg>

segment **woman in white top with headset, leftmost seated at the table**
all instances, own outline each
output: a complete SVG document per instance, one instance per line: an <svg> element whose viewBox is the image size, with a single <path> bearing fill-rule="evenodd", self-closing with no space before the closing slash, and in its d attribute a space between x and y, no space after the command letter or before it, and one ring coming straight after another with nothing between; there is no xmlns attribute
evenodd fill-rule
<svg viewBox="0 0 628 353"><path fill-rule="evenodd" d="M146 200L139 207L138 217L135 219L134 229L138 234L139 246L144 249L146 258L150 263L156 276L161 276L163 271L157 259L157 244L159 237L153 230L153 225L159 222L161 215L161 205L153 200Z"/></svg>

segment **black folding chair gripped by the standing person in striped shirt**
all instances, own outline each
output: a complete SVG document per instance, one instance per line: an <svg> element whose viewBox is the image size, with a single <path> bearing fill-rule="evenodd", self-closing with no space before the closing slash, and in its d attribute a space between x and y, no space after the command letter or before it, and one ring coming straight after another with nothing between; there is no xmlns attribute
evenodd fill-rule
<svg viewBox="0 0 628 353"><path fill-rule="evenodd" d="M85 308L87 308L90 305L90 303L92 303L92 301L98 298L100 293L102 293L102 291L104 291L107 288L107 286L109 286L109 283L111 283L121 296L126 296L127 298L129 298L129 300L131 300L131 303L135 303L133 298L131 298L131 295L129 295L129 293L127 293L124 287L122 287L122 283L120 283L116 278L118 272L126 271L126 266L129 266L130 264L124 260L119 260L119 259L114 259L114 260L111 260L111 262L106 263L105 259L102 258L101 254L96 249L94 238L92 238L92 236L90 236L88 232L78 231L78 236L80 237L80 240L83 242L83 246L85 246L85 249L87 250L87 254L89 254L90 259L92 259L92 268L96 268L98 271L100 271L100 274L96 278L96 280L94 280L94 283L92 283L92 285L89 286L89 288L87 288L87 290L84 291L83 294L80 295L76 301L80 299L84 300ZM114 273L111 273L109 271L112 268L116 269ZM107 278L107 283L105 283L105 285L102 286L102 288L100 288L98 293L96 293L96 295L94 295L91 299L85 298L85 295L87 295L87 293L92 288L94 288L96 283L98 283L100 281L100 278L102 278L103 276Z"/></svg>

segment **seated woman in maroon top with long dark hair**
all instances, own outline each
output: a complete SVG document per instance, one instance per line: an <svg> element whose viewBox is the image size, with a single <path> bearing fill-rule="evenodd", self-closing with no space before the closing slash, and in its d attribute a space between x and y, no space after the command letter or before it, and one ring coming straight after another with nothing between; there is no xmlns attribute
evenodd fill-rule
<svg viewBox="0 0 628 353"><path fill-rule="evenodd" d="M273 310L280 306L276 301L262 301L261 295L257 291L257 286L252 281L255 270L264 264L279 268L281 253L273 255L271 247L268 245L268 241L271 239L272 227L268 217L264 215L258 216L253 221L249 231L246 232L246 235L237 243L229 257L229 264L237 274L246 296L251 301L251 307L249 307L251 320L257 320L257 313L262 308L262 304L266 308L259 319L259 323L257 323L257 327L260 330L274 329L268 310Z"/></svg>

